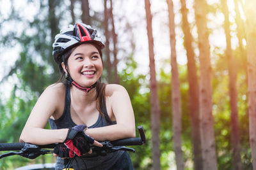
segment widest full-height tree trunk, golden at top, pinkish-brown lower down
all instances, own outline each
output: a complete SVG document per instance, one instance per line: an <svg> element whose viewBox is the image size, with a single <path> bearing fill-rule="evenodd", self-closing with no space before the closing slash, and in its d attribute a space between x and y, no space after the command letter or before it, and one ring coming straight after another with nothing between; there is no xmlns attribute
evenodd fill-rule
<svg viewBox="0 0 256 170"><path fill-rule="evenodd" d="M200 51L199 112L203 167L207 170L217 170L212 117L211 59L209 32L207 30L207 20L205 17L207 15L206 10L206 1L195 0L195 17L198 31L198 47Z"/></svg>

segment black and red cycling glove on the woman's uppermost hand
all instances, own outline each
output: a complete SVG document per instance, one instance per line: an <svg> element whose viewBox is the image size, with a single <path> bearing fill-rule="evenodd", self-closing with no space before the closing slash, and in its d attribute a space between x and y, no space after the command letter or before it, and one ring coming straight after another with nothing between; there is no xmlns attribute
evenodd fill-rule
<svg viewBox="0 0 256 170"><path fill-rule="evenodd" d="M76 153L79 157L84 153L90 151L90 144L94 143L94 139L84 133L86 125L76 125L68 130L67 139L64 144L72 152ZM69 154L70 155L70 154Z"/></svg>

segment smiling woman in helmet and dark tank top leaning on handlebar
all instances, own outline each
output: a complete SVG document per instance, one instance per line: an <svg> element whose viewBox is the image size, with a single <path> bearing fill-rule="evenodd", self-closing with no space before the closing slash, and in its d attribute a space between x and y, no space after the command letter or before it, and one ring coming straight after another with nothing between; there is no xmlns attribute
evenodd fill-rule
<svg viewBox="0 0 256 170"><path fill-rule="evenodd" d="M53 56L65 83L47 87L39 97L20 135L20 142L47 145L59 155L56 169L133 169L127 152L102 157L83 157L92 153L90 143L135 137L134 113L124 87L100 83L102 48L97 30L75 24L57 34ZM53 130L44 129L47 121ZM88 154L87 154L88 155ZM65 159L60 159L60 157ZM72 159L70 159L72 158Z"/></svg>

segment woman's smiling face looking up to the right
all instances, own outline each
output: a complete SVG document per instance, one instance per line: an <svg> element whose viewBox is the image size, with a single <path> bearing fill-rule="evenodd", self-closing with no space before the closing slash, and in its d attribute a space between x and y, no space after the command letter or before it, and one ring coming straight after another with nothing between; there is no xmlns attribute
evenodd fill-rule
<svg viewBox="0 0 256 170"><path fill-rule="evenodd" d="M64 71L83 87L90 87L102 75L102 59L99 51L92 44L82 44L71 53L68 66L62 63Z"/></svg>

